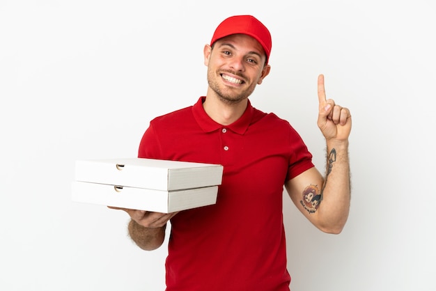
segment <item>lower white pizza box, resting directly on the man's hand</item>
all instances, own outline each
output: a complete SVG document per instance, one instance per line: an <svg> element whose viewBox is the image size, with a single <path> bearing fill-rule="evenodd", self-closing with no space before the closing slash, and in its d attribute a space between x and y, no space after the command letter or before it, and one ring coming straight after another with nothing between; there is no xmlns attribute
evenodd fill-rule
<svg viewBox="0 0 436 291"><path fill-rule="evenodd" d="M162 191L109 184L72 182L72 200L136 210L171 213L217 202L218 186Z"/></svg>

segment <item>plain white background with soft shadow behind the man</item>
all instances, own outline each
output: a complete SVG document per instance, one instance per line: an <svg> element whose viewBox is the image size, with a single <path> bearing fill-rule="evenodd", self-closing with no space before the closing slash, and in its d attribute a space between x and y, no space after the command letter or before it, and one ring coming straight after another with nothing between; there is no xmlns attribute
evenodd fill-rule
<svg viewBox="0 0 436 291"><path fill-rule="evenodd" d="M1 290L164 290L166 246L141 251L127 214L72 203L74 163L135 157L151 118L204 95L203 45L237 14L273 38L252 104L321 171L318 74L352 112L343 233L283 196L291 290L436 290L435 1L0 0Z"/></svg>

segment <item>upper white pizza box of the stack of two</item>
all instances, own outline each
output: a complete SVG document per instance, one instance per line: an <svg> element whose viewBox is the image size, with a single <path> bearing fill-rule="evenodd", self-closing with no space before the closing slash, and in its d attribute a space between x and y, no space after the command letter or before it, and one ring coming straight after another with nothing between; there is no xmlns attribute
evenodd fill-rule
<svg viewBox="0 0 436 291"><path fill-rule="evenodd" d="M223 166L162 159L118 158L78 160L75 180L173 191L221 184Z"/></svg>

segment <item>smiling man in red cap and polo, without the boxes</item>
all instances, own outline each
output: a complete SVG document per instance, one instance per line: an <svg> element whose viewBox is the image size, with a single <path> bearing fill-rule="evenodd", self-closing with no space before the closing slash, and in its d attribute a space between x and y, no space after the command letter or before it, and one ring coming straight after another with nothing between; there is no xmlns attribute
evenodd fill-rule
<svg viewBox="0 0 436 291"><path fill-rule="evenodd" d="M323 178L295 129L248 100L270 73L271 46L270 32L255 17L225 19L204 47L207 94L155 118L143 135L139 157L224 166L216 205L171 214L123 209L131 217L130 237L144 250L162 245L171 219L168 291L289 290L283 185L320 230L341 233L348 218L350 112L326 99L320 75L318 127L328 152Z"/></svg>

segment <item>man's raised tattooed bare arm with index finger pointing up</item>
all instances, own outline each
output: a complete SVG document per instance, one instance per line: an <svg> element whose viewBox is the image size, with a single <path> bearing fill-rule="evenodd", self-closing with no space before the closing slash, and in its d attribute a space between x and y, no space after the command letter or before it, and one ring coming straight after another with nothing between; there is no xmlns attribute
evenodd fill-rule
<svg viewBox="0 0 436 291"><path fill-rule="evenodd" d="M325 177L311 168L285 186L290 198L311 223L326 233L341 233L350 211L348 136L351 115L348 109L326 99L322 75L318 77L318 100L318 127L327 143Z"/></svg>

